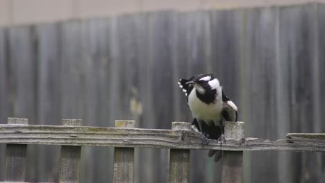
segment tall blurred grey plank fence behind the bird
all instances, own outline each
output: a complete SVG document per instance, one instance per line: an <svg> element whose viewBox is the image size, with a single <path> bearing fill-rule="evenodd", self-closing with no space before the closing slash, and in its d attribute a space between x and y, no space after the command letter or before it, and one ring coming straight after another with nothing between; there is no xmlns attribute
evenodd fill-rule
<svg viewBox="0 0 325 183"><path fill-rule="evenodd" d="M170 129L190 121L178 78L215 73L239 107L245 136L325 132L325 6L142 12L0 28L0 123ZM0 180L4 146L0 145ZM58 180L56 146L28 148L27 180ZM220 164L191 156L191 182L217 182ZM113 148L82 150L81 181L113 180ZM36 155L36 156L35 156ZM136 149L136 182L166 182L167 150ZM244 182L324 182L321 153L244 155Z"/></svg>

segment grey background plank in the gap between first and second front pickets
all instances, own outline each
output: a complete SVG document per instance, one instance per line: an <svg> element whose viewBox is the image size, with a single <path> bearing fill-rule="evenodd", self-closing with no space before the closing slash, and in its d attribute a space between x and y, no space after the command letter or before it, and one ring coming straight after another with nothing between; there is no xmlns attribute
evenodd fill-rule
<svg viewBox="0 0 325 183"><path fill-rule="evenodd" d="M60 24L35 27L38 36L38 110L37 121L42 125L60 125ZM58 181L60 147L33 146L28 158L32 180Z"/></svg>

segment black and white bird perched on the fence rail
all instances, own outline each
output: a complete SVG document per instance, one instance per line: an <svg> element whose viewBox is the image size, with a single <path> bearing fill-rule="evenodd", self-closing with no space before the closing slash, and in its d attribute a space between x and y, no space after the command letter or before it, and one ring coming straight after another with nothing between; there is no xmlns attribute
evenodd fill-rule
<svg viewBox="0 0 325 183"><path fill-rule="evenodd" d="M192 129L201 133L202 145L208 139L224 140L224 121L237 121L238 108L224 94L219 80L212 74L199 74L178 81L183 89L193 116ZM210 150L215 161L222 157L222 150Z"/></svg>

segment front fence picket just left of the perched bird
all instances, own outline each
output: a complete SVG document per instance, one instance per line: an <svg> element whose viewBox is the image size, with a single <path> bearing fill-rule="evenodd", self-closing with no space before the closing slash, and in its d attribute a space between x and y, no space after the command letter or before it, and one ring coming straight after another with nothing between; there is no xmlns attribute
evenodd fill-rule
<svg viewBox="0 0 325 183"><path fill-rule="evenodd" d="M172 130L190 130L191 123L173 122ZM169 183L189 182L190 150L171 149L169 153Z"/></svg>

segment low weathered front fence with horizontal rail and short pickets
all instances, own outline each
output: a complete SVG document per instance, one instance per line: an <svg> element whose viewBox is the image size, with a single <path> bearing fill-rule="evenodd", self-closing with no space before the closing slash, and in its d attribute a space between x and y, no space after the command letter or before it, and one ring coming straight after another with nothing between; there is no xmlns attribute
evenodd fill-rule
<svg viewBox="0 0 325 183"><path fill-rule="evenodd" d="M6 143L6 182L24 182L27 144L61 146L60 182L79 182L82 146L114 146L114 182L133 182L134 148L168 148L169 182L189 182L190 149L225 150L222 183L242 182L244 150L325 151L325 134L287 134L269 141L244 138L243 122L227 122L226 142L210 140L201 146L190 123L174 122L172 130L134 128L134 121L115 121L115 128L82 126L80 119L63 125L28 125L28 119L9 118L0 125L0 143ZM3 183L3 182L2 182Z"/></svg>

